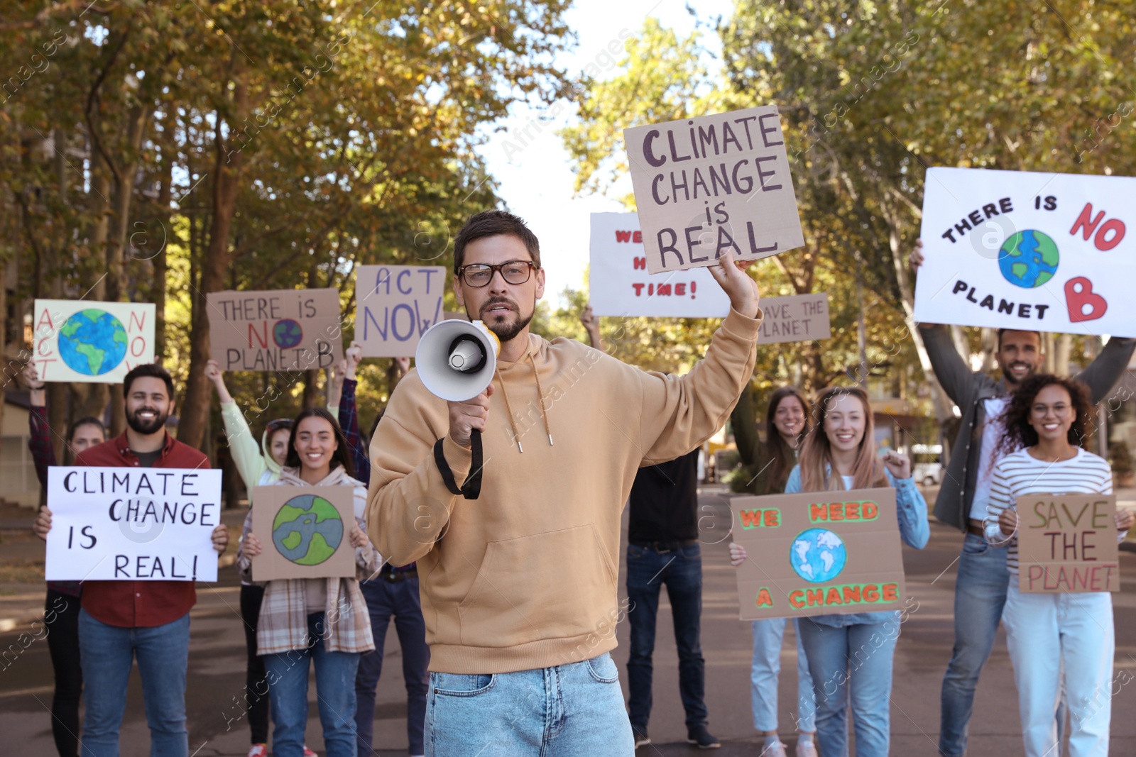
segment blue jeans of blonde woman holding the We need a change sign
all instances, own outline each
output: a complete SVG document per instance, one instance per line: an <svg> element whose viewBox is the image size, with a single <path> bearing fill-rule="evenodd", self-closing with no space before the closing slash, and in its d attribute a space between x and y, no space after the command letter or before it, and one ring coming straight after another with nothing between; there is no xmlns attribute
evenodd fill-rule
<svg viewBox="0 0 1136 757"><path fill-rule="evenodd" d="M817 696L817 741L825 757L847 757L852 703L857 757L887 757L892 658L899 617L833 628L802 619L801 642Z"/></svg>

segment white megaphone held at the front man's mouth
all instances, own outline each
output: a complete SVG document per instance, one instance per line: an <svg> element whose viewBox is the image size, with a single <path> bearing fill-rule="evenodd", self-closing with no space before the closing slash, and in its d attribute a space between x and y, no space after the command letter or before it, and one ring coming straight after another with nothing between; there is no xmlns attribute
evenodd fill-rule
<svg viewBox="0 0 1136 757"><path fill-rule="evenodd" d="M415 367L431 394L465 402L493 381L500 351L501 342L482 321L438 321L419 339Z"/></svg>

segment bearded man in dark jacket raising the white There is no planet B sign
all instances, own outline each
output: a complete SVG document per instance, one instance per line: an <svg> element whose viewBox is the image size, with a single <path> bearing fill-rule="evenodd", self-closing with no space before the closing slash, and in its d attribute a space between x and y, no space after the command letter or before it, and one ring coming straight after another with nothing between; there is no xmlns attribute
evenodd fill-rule
<svg viewBox="0 0 1136 757"><path fill-rule="evenodd" d="M911 266L922 263L922 242L916 243ZM920 325L919 333L935 377L962 413L959 436L935 499L935 518L966 535L954 584L954 650L943 676L939 752L947 757L967 751L967 726L974 710L978 675L994 646L1002 620L1010 574L1006 547L983 538L995 447L1001 427L994 419L1010 395L1042 365L1042 336L1037 331L999 330L997 363L1001 379L971 371L954 348L950 328ZM1076 378L1088 386L1093 402L1108 396L1136 348L1136 339L1112 338Z"/></svg>

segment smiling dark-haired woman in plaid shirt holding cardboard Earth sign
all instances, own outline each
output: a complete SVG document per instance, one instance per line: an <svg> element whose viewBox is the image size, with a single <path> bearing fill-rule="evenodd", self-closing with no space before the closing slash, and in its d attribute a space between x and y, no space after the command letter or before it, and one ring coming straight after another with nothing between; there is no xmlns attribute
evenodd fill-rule
<svg viewBox="0 0 1136 757"><path fill-rule="evenodd" d="M350 486L354 489L356 524L350 539L356 550L353 579L269 581L260 607L257 650L265 657L272 701L273 751L276 757L302 757L308 723L308 666L316 666L319 721L327 757L356 755L354 678L359 656L373 651L370 619L359 579L373 574L383 558L371 546L362 520L367 489L351 478L350 449L340 424L323 407L296 417L278 486ZM261 553L244 521L237 565L251 573L251 557Z"/></svg>

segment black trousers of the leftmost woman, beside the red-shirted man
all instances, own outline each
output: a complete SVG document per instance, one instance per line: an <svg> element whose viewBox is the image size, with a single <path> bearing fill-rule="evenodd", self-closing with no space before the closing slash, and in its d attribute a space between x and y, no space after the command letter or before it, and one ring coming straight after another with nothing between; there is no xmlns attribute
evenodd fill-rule
<svg viewBox="0 0 1136 757"><path fill-rule="evenodd" d="M48 589L43 622L48 653L56 673L56 693L51 698L51 735L59 757L78 754L78 701L83 696L83 668L78 654L80 598Z"/></svg>

